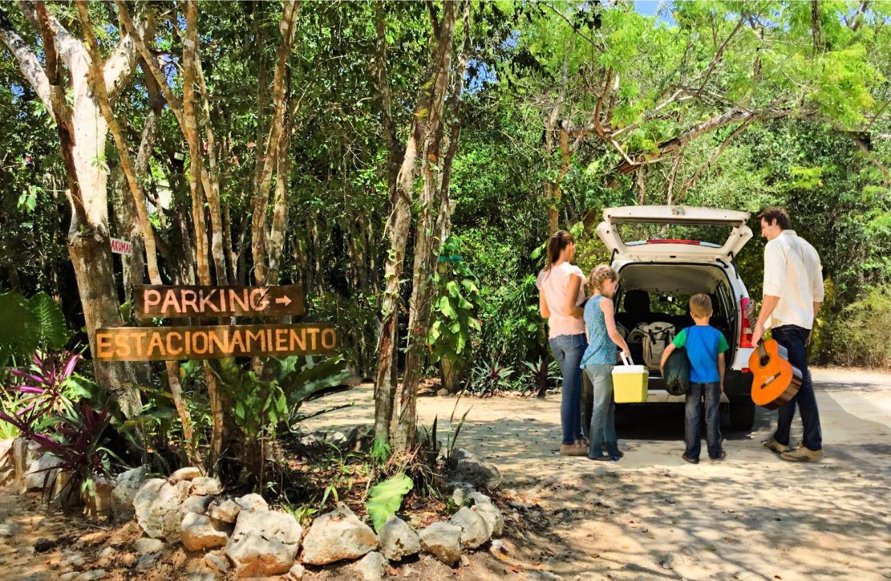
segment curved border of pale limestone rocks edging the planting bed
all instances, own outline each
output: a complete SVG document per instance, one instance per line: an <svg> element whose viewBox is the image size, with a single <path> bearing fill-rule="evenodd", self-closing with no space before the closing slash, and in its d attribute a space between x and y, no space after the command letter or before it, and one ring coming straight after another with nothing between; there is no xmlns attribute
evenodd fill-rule
<svg viewBox="0 0 891 581"><path fill-rule="evenodd" d="M353 444L351 439L347 437L347 446ZM17 484L24 484L27 475L37 470L35 465L45 467L53 461L47 454L29 454L27 443L12 442L8 447L12 454L6 463L12 464L12 474L7 478ZM470 474L487 491L501 486L494 465L465 450L455 455L452 474ZM148 478L146 467L135 468L108 480L102 495L84 500L86 511L94 516L139 524L144 536L134 544L142 553L137 570L151 569L163 547L176 543L189 552L203 553L208 574L299 579L303 564L354 561L357 576L378 581L390 563L420 552L455 567L466 561L464 553L500 543L494 539L503 533L504 517L488 495L463 480L449 482L446 490L452 491L452 501L459 507L450 520L416 530L393 515L376 533L343 503L304 530L291 514L269 510L260 495L225 495L219 480L195 467L181 468L167 479Z"/></svg>

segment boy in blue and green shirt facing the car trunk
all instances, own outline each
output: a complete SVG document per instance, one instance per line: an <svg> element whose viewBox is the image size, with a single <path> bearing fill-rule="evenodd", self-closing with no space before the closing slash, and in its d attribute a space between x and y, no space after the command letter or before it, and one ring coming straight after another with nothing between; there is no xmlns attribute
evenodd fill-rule
<svg viewBox="0 0 891 581"><path fill-rule="evenodd" d="M693 295L690 299L690 314L695 326L687 327L677 334L674 341L662 354L662 374L665 365L675 348L684 348L690 361L690 389L687 389L686 410L684 415L684 444L686 449L683 459L687 462L699 462L700 427L702 425L702 406L699 402L706 399L706 445L711 460L723 460L727 454L721 447L721 416L719 405L723 393L724 351L729 346L721 331L708 324L712 315L712 299L706 294Z"/></svg>

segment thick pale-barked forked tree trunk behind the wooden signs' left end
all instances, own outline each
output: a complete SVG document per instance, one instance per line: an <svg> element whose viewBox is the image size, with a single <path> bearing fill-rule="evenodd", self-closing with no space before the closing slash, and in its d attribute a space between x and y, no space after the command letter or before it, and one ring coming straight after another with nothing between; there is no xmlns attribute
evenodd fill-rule
<svg viewBox="0 0 891 581"><path fill-rule="evenodd" d="M40 33L45 68L12 28L2 9L0 41L9 48L22 76L53 116L59 133L61 157L68 180L66 194L72 210L68 250L78 281L78 295L84 310L90 349L95 353L96 329L121 323L108 232L108 170L104 164L95 162L104 155L108 127L86 83L89 59L83 43L46 12L43 3L23 4L22 10ZM133 39L122 35L103 68L103 78L110 86L112 99L133 74L133 48ZM66 99L61 61L68 65L70 74L70 106ZM109 390L127 417L142 411L130 364L94 360L94 369L96 381Z"/></svg>

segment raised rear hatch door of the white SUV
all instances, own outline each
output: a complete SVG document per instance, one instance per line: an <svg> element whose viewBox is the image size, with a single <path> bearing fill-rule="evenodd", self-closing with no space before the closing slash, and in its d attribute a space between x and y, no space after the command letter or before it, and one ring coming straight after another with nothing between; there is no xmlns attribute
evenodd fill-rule
<svg viewBox="0 0 891 581"><path fill-rule="evenodd" d="M597 235L613 259L733 260L752 238L748 217L696 206L622 206L603 210Z"/></svg>

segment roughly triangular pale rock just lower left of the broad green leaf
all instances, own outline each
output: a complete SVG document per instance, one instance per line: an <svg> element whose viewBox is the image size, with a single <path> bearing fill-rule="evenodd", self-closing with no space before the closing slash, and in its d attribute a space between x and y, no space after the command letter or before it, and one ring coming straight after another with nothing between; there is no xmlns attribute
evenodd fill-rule
<svg viewBox="0 0 891 581"><path fill-rule="evenodd" d="M326 565L341 559L357 559L378 548L374 531L343 503L336 511L313 521L303 541L303 562Z"/></svg>

